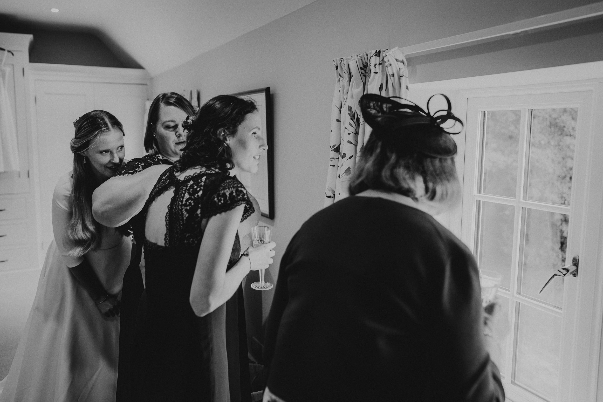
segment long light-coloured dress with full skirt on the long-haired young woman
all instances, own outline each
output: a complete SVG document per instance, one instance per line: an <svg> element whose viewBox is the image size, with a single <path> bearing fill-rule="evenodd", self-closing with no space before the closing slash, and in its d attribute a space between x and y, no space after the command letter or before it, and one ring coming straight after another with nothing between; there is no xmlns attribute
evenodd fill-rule
<svg viewBox="0 0 603 402"><path fill-rule="evenodd" d="M0 402L115 400L119 318L101 315L68 267L85 258L105 289L118 294L130 263L131 240L103 227L99 250L69 256L65 232L71 218L71 174L63 175L54 189L54 240Z"/></svg>

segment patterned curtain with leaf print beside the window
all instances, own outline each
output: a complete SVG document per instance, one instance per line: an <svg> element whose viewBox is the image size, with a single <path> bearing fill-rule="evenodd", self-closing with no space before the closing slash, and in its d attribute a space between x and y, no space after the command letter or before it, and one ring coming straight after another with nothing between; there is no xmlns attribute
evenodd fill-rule
<svg viewBox="0 0 603 402"><path fill-rule="evenodd" d="M333 62L336 82L325 207L348 195L347 182L370 136L371 128L364 124L358 105L360 97L365 93L408 96L406 58L399 48L354 54Z"/></svg>

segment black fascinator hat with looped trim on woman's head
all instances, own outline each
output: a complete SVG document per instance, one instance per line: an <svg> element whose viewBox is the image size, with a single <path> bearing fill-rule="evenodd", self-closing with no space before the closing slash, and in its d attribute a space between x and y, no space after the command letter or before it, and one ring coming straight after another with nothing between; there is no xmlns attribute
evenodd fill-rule
<svg viewBox="0 0 603 402"><path fill-rule="evenodd" d="M373 128L377 139L398 149L414 149L425 155L435 158L451 158L456 154L456 143L450 134L458 134L463 128L463 122L452 114L450 99L446 99L447 108L431 113L427 101L427 111L414 102L397 96L385 96L367 93L360 98L360 107L364 121ZM400 99L402 102L394 100ZM449 128L444 128L447 122L452 121ZM456 122L461 124L461 130L450 132L456 127Z"/></svg>

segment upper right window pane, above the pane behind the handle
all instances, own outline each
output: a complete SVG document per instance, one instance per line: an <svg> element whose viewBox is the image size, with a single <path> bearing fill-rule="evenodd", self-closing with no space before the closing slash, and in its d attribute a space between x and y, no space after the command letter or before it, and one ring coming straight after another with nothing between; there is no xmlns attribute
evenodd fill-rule
<svg viewBox="0 0 603 402"><path fill-rule="evenodd" d="M569 205L578 108L534 109L528 199Z"/></svg>

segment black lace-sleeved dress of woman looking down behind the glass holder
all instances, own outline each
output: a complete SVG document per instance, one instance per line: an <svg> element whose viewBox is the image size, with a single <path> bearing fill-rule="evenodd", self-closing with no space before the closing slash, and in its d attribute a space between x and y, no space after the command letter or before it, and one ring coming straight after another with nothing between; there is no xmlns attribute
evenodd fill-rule
<svg viewBox="0 0 603 402"><path fill-rule="evenodd" d="M174 162L162 155L144 155L142 158L134 158L122 166L116 176L129 176L144 171L155 165L172 165ZM126 224L134 234L136 243L136 254L131 260L128 269L124 274L124 285L121 293L121 318L119 319L119 365L117 377L116 402L131 401L131 348L134 339L134 325L136 325L136 315L138 304L144 284L140 274L140 257L142 255L142 239L144 235L144 214L137 213Z"/></svg>

